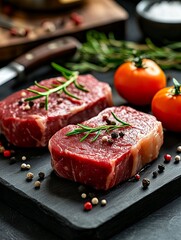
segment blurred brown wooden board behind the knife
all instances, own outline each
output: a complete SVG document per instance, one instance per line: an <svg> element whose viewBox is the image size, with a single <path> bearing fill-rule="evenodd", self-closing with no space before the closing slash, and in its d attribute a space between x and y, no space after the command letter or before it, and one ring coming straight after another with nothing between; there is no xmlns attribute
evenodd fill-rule
<svg viewBox="0 0 181 240"><path fill-rule="evenodd" d="M73 12L83 18L81 24L75 25L70 20ZM18 27L29 29L29 33L26 37L16 37L11 36L9 30L0 28L0 61L9 61L37 44L60 36L75 36L83 41L86 31L90 29L111 31L120 38L124 37L127 18L125 9L113 0L84 0L79 7L48 13L15 9L7 20ZM45 21L54 23L56 29L46 31L42 25Z"/></svg>

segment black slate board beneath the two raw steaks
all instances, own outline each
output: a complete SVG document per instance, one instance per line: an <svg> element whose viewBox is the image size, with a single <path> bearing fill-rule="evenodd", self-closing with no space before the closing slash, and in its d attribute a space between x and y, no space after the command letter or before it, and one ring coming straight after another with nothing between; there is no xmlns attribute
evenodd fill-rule
<svg viewBox="0 0 181 240"><path fill-rule="evenodd" d="M38 72L35 74L38 78ZM180 73L174 73L175 77L176 74ZM94 75L112 86L112 73ZM10 85L0 89L1 98L12 91ZM113 96L116 105L124 103L114 88ZM0 197L61 239L106 239L180 195L181 163L175 164L172 160L165 164L162 174L152 178L152 172L164 161L163 155L169 153L174 158L178 145L181 145L180 135L165 132L164 145L158 159L141 172L141 179L148 177L151 180L149 188L143 190L141 181L128 181L107 192L93 191L99 199L105 198L107 205L95 206L90 212L83 211L85 200L81 199L78 191L80 184L60 179L54 174L47 149L18 148L16 152L19 159L23 155L27 156L26 162L32 166L34 180L26 182L27 172L20 170L21 161L10 165L9 160L1 156ZM45 173L46 178L41 188L36 190L33 183L38 179L40 171Z"/></svg>

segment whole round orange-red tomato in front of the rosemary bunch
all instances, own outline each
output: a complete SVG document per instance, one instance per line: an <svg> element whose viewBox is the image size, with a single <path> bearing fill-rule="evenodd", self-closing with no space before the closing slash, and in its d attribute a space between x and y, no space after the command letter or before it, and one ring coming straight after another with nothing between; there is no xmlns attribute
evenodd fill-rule
<svg viewBox="0 0 181 240"><path fill-rule="evenodd" d="M155 93L166 86L166 76L150 59L143 59L142 67L137 67L134 62L126 62L116 70L114 86L129 103L143 106L151 104Z"/></svg>

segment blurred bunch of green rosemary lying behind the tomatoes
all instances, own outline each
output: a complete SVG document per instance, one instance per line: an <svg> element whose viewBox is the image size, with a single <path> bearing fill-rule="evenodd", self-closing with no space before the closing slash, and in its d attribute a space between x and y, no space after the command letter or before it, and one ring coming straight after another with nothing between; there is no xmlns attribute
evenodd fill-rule
<svg viewBox="0 0 181 240"><path fill-rule="evenodd" d="M181 69L180 50L181 42L157 47L150 39L146 39L145 44L138 44L116 40L112 33L106 36L104 33L89 31L87 41L77 50L74 62L67 66L80 72L106 72L141 56L154 60L163 69Z"/></svg>

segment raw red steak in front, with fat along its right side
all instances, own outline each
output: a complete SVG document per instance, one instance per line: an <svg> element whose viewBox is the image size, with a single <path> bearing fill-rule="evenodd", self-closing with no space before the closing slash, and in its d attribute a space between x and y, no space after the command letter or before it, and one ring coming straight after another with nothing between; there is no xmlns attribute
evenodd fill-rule
<svg viewBox="0 0 181 240"><path fill-rule="evenodd" d="M125 106L111 107L82 124L97 127L105 125L106 118L115 121L111 112L131 124L114 130L119 134L117 138L110 139L111 132L102 131L96 141L91 141L96 134L92 133L80 142L85 133L66 136L79 128L68 125L50 139L52 167L59 176L107 190L134 176L157 158L163 143L163 129L152 115ZM116 121L116 124L120 123Z"/></svg>

